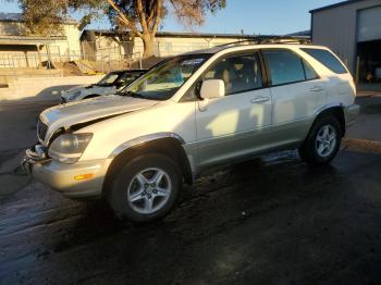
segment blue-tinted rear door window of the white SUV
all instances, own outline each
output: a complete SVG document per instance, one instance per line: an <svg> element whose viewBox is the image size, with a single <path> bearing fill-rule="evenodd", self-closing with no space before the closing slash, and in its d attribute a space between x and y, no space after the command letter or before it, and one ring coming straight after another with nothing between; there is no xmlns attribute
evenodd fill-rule
<svg viewBox="0 0 381 285"><path fill-rule="evenodd" d="M270 71L271 85L282 85L305 80L302 59L287 50L263 50Z"/></svg>

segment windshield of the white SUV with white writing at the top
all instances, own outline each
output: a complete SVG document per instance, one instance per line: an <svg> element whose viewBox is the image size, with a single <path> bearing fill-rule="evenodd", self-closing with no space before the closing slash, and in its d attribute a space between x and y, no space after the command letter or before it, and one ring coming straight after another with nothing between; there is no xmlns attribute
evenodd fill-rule
<svg viewBox="0 0 381 285"><path fill-rule="evenodd" d="M180 55L148 71L124 94L145 99L168 100L198 70L209 54Z"/></svg>

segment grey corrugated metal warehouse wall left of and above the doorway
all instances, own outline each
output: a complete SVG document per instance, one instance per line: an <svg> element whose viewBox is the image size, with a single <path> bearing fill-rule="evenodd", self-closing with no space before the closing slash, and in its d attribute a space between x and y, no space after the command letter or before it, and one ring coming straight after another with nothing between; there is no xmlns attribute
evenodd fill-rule
<svg viewBox="0 0 381 285"><path fill-rule="evenodd" d="M312 42L330 47L355 74L357 11L377 5L381 5L381 0L360 0L314 12Z"/></svg>

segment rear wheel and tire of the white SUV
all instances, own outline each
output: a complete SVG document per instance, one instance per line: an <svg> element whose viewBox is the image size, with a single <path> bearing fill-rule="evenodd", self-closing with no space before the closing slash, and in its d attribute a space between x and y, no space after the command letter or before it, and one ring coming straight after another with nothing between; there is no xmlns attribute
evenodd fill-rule
<svg viewBox="0 0 381 285"><path fill-rule="evenodd" d="M312 165L330 163L337 154L343 129L333 115L318 119L299 147L302 160Z"/></svg>

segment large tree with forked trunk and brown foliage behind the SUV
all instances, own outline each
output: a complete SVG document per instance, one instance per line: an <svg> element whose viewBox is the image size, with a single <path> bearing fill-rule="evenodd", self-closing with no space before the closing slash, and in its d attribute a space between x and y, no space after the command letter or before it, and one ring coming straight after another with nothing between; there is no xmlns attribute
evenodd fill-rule
<svg viewBox="0 0 381 285"><path fill-rule="evenodd" d="M85 11L84 27L95 17L108 15L120 32L130 32L144 44L144 57L153 55L153 40L164 16L173 14L187 27L202 24L208 11L223 9L226 0L19 0L32 33L57 33L65 16Z"/></svg>

